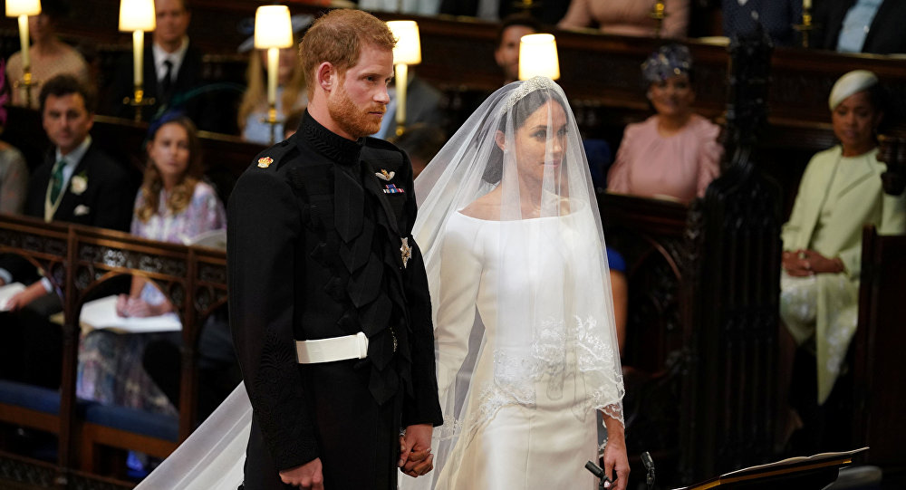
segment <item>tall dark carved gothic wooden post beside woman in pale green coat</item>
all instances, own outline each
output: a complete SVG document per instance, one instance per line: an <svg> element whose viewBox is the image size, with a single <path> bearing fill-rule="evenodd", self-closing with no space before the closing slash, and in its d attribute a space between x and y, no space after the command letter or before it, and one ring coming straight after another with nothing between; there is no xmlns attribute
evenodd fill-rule
<svg viewBox="0 0 906 490"><path fill-rule="evenodd" d="M754 156L770 48L734 43L722 174L689 209L679 475L692 483L774 454L780 193Z"/></svg>

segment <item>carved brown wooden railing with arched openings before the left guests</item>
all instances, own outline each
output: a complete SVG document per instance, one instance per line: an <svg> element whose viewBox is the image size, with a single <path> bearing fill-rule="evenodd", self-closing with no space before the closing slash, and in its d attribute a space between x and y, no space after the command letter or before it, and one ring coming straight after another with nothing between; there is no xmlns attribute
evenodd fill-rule
<svg viewBox="0 0 906 490"><path fill-rule="evenodd" d="M59 437L58 479L65 482L92 444L120 447L166 456L188 437L197 421L198 335L202 322L226 304L226 254L222 250L145 240L90 226L44 223L27 217L0 215L0 253L22 255L43 268L63 294L63 373L59 412L43 414L36 428L52 429ZM104 428L77 415L75 395L82 304L117 277L138 274L156 283L173 304L183 324L178 440L142 437L129 430ZM10 406L0 407L0 419L35 427ZM20 407L21 408L21 407ZM34 420L35 423L39 422ZM94 430L90 430L90 429ZM103 428L103 430L101 430ZM92 434L100 435L92 440ZM87 438L87 440L86 440ZM81 454L80 454L81 453Z"/></svg>

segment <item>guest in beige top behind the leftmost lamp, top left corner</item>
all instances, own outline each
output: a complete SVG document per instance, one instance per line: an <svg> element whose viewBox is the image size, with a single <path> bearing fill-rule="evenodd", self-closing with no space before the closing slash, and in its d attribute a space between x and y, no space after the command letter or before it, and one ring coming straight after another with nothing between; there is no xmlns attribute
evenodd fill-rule
<svg viewBox="0 0 906 490"><path fill-rule="evenodd" d="M69 6L63 0L42 0L41 14L28 17L28 34L32 37L32 45L28 50L31 58L31 71L33 82L47 82L54 76L69 73L82 83L88 82L88 64L67 43L57 37L57 23L69 13ZM22 80L22 52L13 53L6 64L6 78L10 83ZM15 87L15 85L13 85ZM25 105L25 89L14 88L13 105ZM38 99L32 91L32 109L38 109Z"/></svg>

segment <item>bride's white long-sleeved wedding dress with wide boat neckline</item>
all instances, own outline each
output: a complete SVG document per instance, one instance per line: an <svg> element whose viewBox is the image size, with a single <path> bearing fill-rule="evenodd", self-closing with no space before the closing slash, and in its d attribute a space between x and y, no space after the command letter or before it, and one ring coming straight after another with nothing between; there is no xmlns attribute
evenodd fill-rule
<svg viewBox="0 0 906 490"><path fill-rule="evenodd" d="M570 256L595 253L593 237L581 235L573 226L576 219L591 219L591 214L585 209L515 221L461 213L450 218L435 330L442 400L445 391L455 389L476 312L485 330L461 433L436 488L596 487L583 466L596 461L594 406L601 394L590 392L583 376L573 373L581 371L577 363L589 355L613 362L613 351L584 328L584 322L600 319L564 318L573 305L525 308L526 295L544 296L549 289L559 297L564 283L602 291L603 284L595 287L587 269L567 265L574 262ZM497 325L498 309L509 309L503 316L515 323ZM542 331L531 331L533 325ZM617 396L615 384L612 396ZM586 403L577 406L577 398Z"/></svg>

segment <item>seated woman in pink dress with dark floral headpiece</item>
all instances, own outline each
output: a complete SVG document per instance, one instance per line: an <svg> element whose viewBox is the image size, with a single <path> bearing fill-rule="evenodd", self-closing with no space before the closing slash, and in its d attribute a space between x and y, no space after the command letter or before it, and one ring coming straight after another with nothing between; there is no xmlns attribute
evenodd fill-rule
<svg viewBox="0 0 906 490"><path fill-rule="evenodd" d="M641 70L657 114L626 127L607 188L688 203L703 196L718 176L723 154L717 140L720 127L692 112L695 91L686 46L660 47Z"/></svg>

